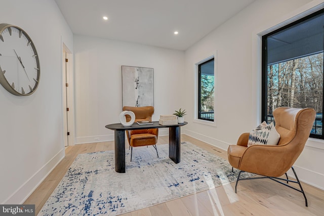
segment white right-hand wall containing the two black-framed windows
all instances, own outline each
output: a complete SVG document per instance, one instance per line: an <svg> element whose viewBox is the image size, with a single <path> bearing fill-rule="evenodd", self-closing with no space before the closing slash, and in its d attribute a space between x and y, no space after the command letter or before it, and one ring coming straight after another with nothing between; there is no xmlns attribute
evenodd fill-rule
<svg viewBox="0 0 324 216"><path fill-rule="evenodd" d="M309 3L310 2L310 3ZM198 41L185 52L184 98L188 110L185 133L224 150L261 121L261 32L319 5L322 1L259 0ZM323 8L323 6L321 6ZM318 8L320 9L320 8ZM310 13L310 12L308 12ZM296 20L296 18L295 18ZM215 54L216 121L208 126L193 121L194 64ZM299 178L324 189L324 143L309 140L295 164Z"/></svg>

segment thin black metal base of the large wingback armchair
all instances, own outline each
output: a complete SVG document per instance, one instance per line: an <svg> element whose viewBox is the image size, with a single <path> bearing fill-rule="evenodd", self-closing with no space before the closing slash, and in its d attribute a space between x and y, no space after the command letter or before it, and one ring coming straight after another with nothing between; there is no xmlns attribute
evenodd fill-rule
<svg viewBox="0 0 324 216"><path fill-rule="evenodd" d="M294 167L292 167L292 170L293 170L293 172L294 172L294 174L295 174L295 177L296 177L296 180L297 180L297 181L289 180L289 179L288 179L288 176L287 176L287 172L286 172L286 174L285 174L286 177L287 177L287 179L282 179L282 178L278 178L278 177L269 177L269 176L251 177L251 178L246 178L246 179L240 179L239 176L240 176L241 172L245 172L245 171L240 170L239 173L238 173L238 176L237 176L236 184L235 184L235 193L236 193L236 187L237 187L237 183L238 183L238 181L241 181L241 180L253 180L253 179L271 179L271 180L273 180L273 181L275 181L275 182L277 182L277 183L280 183L281 185L285 185L285 186L287 186L287 187L289 187L289 188L292 188L292 189L294 189L294 190L296 190L296 191L298 191L298 192L301 192L301 193L304 195L304 198L305 198L305 205L306 205L306 207L307 207L307 206L308 206L308 204L307 204L307 198L306 198L306 195L305 195L304 190L303 190L303 188L302 188L302 185L301 185L300 182L299 182L299 179L298 179L298 177L297 177L297 174L296 174L296 172L295 172ZM256 175L259 175L259 174L256 174ZM280 182L279 180L280 180L280 181L287 182L287 183ZM288 185L289 182L292 182L292 183L296 183L296 184L298 184L299 187L300 187L300 189Z"/></svg>

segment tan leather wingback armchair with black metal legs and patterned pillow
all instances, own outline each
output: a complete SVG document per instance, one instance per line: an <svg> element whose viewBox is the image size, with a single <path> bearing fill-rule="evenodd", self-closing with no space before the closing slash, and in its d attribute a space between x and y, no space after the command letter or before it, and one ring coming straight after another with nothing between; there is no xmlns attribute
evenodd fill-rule
<svg viewBox="0 0 324 216"><path fill-rule="evenodd" d="M227 149L228 161L234 168L240 170L236 180L235 193L237 183L240 180L268 178L303 193L307 206L307 199L293 164L304 149L315 115L315 110L310 108L279 107L273 111L275 128L280 134L278 145L253 145L247 147L249 133L242 134L238 138L236 145L230 145ZM290 168L295 174L296 181L288 179L287 171ZM240 179L240 174L244 171L263 177ZM284 174L286 179L279 178ZM289 182L297 183L300 189L288 185Z"/></svg>

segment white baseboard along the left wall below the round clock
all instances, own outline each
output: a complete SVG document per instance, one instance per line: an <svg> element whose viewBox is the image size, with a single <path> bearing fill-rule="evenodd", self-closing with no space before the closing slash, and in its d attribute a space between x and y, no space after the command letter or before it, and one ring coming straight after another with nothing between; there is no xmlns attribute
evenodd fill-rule
<svg viewBox="0 0 324 216"><path fill-rule="evenodd" d="M61 149L52 159L42 168L35 172L24 184L22 184L4 204L23 204L24 201L34 192L34 190L45 180L57 164L64 158L65 148Z"/></svg>

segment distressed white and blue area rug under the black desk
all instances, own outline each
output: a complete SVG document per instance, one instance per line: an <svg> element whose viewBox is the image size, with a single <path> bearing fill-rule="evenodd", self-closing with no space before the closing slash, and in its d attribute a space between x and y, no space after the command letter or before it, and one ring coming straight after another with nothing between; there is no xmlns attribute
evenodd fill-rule
<svg viewBox="0 0 324 216"><path fill-rule="evenodd" d="M114 151L79 154L38 215L118 215L236 181L238 170L191 143L181 162L169 145L126 149L126 173L114 170ZM243 177L253 176L245 172Z"/></svg>

